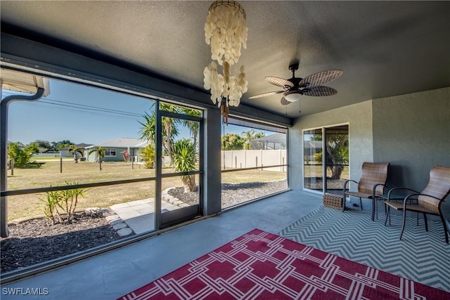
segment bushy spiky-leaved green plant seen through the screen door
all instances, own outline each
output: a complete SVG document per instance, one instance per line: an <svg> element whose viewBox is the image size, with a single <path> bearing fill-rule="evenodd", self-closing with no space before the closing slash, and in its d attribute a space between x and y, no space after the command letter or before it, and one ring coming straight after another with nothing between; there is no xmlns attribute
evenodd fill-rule
<svg viewBox="0 0 450 300"><path fill-rule="evenodd" d="M197 157L192 141L184 138L176 141L173 147L175 171L187 172L195 170ZM181 181L184 184L184 192L195 191L195 175L183 175Z"/></svg>

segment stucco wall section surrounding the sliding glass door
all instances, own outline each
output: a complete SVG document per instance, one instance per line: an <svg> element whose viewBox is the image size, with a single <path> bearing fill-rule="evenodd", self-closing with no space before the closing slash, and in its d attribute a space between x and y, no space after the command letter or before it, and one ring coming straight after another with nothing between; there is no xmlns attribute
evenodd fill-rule
<svg viewBox="0 0 450 300"><path fill-rule="evenodd" d="M290 188L303 188L303 134L304 129L349 124L350 178L358 180L363 162L373 160L372 101L300 117L289 129Z"/></svg>

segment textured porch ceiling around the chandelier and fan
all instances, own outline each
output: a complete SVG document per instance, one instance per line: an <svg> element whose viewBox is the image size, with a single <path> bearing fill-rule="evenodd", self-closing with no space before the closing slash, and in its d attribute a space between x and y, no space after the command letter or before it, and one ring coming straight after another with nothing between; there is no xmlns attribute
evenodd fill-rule
<svg viewBox="0 0 450 300"><path fill-rule="evenodd" d="M203 89L210 61L203 25L212 1L1 1L2 27L39 33L87 53L139 65ZM298 117L336 107L450 86L449 1L240 1L248 47L239 65L249 81L243 103ZM265 76L344 70L329 97L287 107ZM301 105L302 113L299 113Z"/></svg>

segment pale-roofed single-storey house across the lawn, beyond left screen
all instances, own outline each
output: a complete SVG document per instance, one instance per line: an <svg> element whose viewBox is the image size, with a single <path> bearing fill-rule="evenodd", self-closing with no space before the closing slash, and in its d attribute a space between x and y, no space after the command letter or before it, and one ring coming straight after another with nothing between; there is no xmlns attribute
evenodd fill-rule
<svg viewBox="0 0 450 300"><path fill-rule="evenodd" d="M139 162L139 150L145 148L146 145L147 142L142 141L140 138L115 138L103 143L89 145L84 150L84 156L88 162L96 162L98 159L97 153L93 152L89 155L89 152L96 147L102 147L107 149L105 157L102 159L103 162L123 162L124 155L122 155L122 151L128 151L130 161Z"/></svg>

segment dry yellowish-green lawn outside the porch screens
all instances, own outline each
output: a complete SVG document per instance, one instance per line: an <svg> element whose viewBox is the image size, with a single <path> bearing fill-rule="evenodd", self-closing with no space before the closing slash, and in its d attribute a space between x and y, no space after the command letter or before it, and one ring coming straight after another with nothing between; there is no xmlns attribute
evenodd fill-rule
<svg viewBox="0 0 450 300"><path fill-rule="evenodd" d="M63 161L63 173L60 172L59 159L46 160L39 169L14 169L14 176L8 170L8 190L21 190L26 188L43 188L68 183L95 183L101 181L117 181L132 178L145 178L155 176L154 169L144 169L139 164L131 165L125 162L103 162L103 171L99 171L97 163L78 162L73 159ZM164 169L170 173L172 169ZM245 183L255 181L274 181L283 179L286 174L276 171L248 170L222 174L222 181L226 183ZM164 178L162 189L181 186L179 177ZM98 188L89 188L86 197L82 199L79 208L110 207L113 204L154 197L155 182L130 183L123 185L109 185ZM8 220L24 216L44 214L44 205L39 198L42 194L28 194L8 197Z"/></svg>

